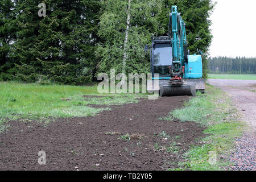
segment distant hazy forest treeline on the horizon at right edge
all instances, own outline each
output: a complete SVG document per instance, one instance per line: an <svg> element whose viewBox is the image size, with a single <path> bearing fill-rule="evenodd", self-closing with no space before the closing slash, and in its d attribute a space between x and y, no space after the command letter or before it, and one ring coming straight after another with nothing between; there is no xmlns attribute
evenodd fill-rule
<svg viewBox="0 0 256 182"><path fill-rule="evenodd" d="M210 73L256 74L256 57L210 57Z"/></svg>

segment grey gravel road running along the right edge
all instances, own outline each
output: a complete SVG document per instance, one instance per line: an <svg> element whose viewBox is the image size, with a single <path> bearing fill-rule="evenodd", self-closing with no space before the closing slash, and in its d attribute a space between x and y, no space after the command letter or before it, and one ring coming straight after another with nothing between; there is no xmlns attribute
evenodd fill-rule
<svg viewBox="0 0 256 182"><path fill-rule="evenodd" d="M251 131L245 132L236 140L236 148L228 157L233 166L226 169L233 171L255 171L256 147L256 80L222 80L209 79L210 85L217 86L232 97L234 106L240 111Z"/></svg>

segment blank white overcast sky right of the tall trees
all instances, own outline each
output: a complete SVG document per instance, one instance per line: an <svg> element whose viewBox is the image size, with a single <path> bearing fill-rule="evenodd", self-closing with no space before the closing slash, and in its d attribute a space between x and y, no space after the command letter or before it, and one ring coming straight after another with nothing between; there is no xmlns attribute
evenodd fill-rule
<svg viewBox="0 0 256 182"><path fill-rule="evenodd" d="M256 57L256 1L214 1L210 56Z"/></svg>

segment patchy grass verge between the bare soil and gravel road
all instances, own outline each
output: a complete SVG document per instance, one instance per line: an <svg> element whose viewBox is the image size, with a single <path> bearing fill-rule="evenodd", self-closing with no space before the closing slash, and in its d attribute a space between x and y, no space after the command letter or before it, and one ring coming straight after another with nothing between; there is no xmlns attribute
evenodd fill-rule
<svg viewBox="0 0 256 182"><path fill-rule="evenodd" d="M175 117L183 122L195 121L207 127L204 133L208 134L208 137L200 140L203 145L192 146L184 154L185 161L179 163L179 168L170 170L222 170L228 166L228 162L218 156L228 155L235 138L240 137L246 127L245 123L238 121L237 110L222 90L207 85L206 91L204 95L197 94L183 108L172 111L169 117L164 118L171 120ZM214 164L209 162L211 152L217 156Z"/></svg>

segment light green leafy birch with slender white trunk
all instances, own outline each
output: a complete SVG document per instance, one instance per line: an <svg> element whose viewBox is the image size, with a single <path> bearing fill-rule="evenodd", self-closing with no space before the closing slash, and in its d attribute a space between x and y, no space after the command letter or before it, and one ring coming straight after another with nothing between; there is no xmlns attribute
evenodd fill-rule
<svg viewBox="0 0 256 182"><path fill-rule="evenodd" d="M159 23L157 14L163 0L105 0L98 35L102 39L97 48L101 60L99 72L148 73L149 57L144 46L151 44Z"/></svg>

